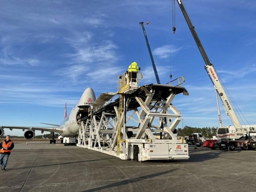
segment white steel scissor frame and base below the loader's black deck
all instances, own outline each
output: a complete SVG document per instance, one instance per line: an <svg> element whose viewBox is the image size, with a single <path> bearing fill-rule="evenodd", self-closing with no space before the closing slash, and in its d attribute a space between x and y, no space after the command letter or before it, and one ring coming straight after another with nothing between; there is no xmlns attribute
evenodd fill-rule
<svg viewBox="0 0 256 192"><path fill-rule="evenodd" d="M113 106L115 113L105 113L103 110L101 116L97 113L97 115L92 116L91 120L87 118L86 122L81 122L78 146L100 151L121 159L133 159L135 158L133 146L138 145L139 150L142 151L138 154L139 161L148 159L188 159L188 148L185 148L186 152L182 154L175 152L177 149L187 146L180 139L177 139L173 133L181 120L180 112L171 103L176 95L175 91L170 91L168 97L165 98L154 98L157 95L155 95L156 93L153 89L149 90L149 92L150 94L145 92L144 95L140 96L134 94L125 95L124 100L126 101L121 101L122 108L124 110L129 109L129 114L126 114L125 111L120 113L121 105L118 102L118 106ZM138 102L139 107L131 109L130 102L132 98L133 102ZM120 115L119 120L118 115ZM170 122L170 118L174 120ZM128 121L132 126L127 126ZM119 151L118 129L120 131ZM128 138L127 131L132 131L136 136ZM164 136L159 139L158 134L161 132ZM157 150L161 151L161 153L159 152L161 155L148 154L150 152L147 149L152 146L158 146Z"/></svg>

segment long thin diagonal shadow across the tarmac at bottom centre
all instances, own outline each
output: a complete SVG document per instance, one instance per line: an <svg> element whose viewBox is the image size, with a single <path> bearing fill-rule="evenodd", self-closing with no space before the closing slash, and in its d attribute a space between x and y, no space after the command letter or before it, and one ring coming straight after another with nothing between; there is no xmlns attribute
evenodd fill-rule
<svg viewBox="0 0 256 192"><path fill-rule="evenodd" d="M164 171L164 172L160 172L160 173L154 173L154 174L150 174L150 175L140 176L140 177L136 177L136 178L130 178L130 179L127 179L127 180L114 182L112 184L108 184L108 185L105 185L105 186L102 186L102 187L97 187L97 188L94 188L94 189L88 189L88 190L83 191L83 192L92 192L92 191L98 191L98 190L108 189L108 188L112 188L112 187L118 187L118 186L122 186L122 185L126 185L126 184L131 184L133 182L142 181L142 180L145 180L145 179L148 179L148 178L161 176L161 175L173 172L174 170L177 170L177 169L172 169L172 170L168 170L168 171Z"/></svg>

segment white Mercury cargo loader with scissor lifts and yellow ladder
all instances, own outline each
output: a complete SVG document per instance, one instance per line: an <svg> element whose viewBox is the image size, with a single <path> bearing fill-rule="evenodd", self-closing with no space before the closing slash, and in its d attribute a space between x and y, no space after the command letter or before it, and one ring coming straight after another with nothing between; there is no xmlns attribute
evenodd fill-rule
<svg viewBox="0 0 256 192"><path fill-rule="evenodd" d="M78 144L120 159L188 159L188 144L173 133L181 114L172 104L175 95L188 91L182 86L149 84L138 86L124 73L118 78L119 96L102 93L81 119ZM162 133L162 139L156 135Z"/></svg>

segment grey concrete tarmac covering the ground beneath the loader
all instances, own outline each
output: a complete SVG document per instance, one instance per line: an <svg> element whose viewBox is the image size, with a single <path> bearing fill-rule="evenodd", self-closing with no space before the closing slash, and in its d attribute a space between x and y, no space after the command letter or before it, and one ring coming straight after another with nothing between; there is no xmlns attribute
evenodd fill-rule
<svg viewBox="0 0 256 192"><path fill-rule="evenodd" d="M15 142L0 191L255 191L256 151L189 147L178 162L125 161L45 142Z"/></svg>

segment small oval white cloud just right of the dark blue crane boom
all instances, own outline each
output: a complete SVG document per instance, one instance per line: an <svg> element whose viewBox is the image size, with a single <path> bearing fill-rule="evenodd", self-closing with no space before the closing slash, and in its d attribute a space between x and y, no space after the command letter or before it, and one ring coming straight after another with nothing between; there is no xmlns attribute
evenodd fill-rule
<svg viewBox="0 0 256 192"><path fill-rule="evenodd" d="M160 59L166 59L168 57L170 57L170 53L171 54L176 54L178 53L180 50L182 49L182 47L176 47L175 45L163 45L161 47L155 48L153 50L153 54L157 55Z"/></svg>

